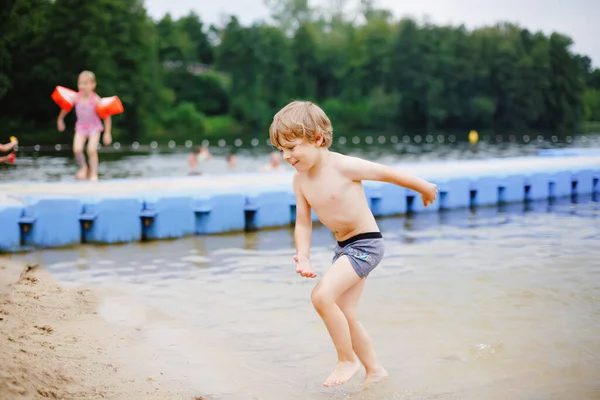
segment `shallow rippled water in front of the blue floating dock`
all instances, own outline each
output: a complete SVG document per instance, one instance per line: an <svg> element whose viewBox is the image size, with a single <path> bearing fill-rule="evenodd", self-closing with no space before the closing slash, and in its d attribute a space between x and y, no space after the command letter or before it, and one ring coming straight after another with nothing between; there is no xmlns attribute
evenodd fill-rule
<svg viewBox="0 0 600 400"><path fill-rule="evenodd" d="M98 285L141 328L145 364L207 399L600 398L600 204L589 199L379 220L386 258L359 306L391 379L321 382L335 363L289 229L13 256ZM316 226L313 262L333 237Z"/></svg>

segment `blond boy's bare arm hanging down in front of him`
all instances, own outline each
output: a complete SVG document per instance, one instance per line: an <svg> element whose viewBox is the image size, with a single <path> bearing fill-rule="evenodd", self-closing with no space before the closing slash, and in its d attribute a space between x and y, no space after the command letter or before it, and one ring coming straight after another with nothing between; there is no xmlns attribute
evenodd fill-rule
<svg viewBox="0 0 600 400"><path fill-rule="evenodd" d="M296 226L294 243L296 244L296 272L306 278L317 276L310 267L310 242L312 237L311 208L300 191L298 175L294 175L294 194L296 195Z"/></svg>

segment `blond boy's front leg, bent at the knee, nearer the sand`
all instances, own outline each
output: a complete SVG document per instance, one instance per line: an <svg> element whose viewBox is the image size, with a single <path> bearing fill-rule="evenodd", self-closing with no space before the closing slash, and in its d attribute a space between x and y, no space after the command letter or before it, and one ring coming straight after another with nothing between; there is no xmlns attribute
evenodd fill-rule
<svg viewBox="0 0 600 400"><path fill-rule="evenodd" d="M342 385L360 369L354 356L350 328L346 316L336 300L360 282L347 256L341 256L329 268L313 289L312 303L323 319L338 354L338 365L323 383L324 386Z"/></svg>

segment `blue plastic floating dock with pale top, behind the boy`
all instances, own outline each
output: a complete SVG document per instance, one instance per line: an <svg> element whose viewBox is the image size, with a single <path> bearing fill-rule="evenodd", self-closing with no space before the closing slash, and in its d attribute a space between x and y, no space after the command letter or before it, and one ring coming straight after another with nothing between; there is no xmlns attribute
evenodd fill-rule
<svg viewBox="0 0 600 400"><path fill-rule="evenodd" d="M393 167L437 183L438 200L425 209L418 193L364 182L375 216L600 193L600 152L591 150ZM0 184L0 252L289 226L292 177L290 171Z"/></svg>

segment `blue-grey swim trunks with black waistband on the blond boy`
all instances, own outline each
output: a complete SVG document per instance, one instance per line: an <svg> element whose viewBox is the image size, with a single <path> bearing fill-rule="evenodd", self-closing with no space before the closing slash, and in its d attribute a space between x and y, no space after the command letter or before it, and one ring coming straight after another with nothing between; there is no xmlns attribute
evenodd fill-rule
<svg viewBox="0 0 600 400"><path fill-rule="evenodd" d="M383 236L381 232L360 233L343 242L337 242L334 253L332 262L346 255L358 276L366 278L383 259Z"/></svg>

